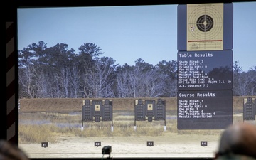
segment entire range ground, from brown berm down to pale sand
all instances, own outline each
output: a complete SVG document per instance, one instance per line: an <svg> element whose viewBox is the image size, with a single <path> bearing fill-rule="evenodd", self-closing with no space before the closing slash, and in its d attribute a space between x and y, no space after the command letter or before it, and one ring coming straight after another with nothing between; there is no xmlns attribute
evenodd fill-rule
<svg viewBox="0 0 256 160"><path fill-rule="evenodd" d="M233 97L233 123L243 122L244 98ZM99 158L103 156L102 147L108 145L112 146L112 157L213 157L223 130L178 130L177 100L163 99L166 130L163 121L137 122L135 130L132 98L110 99L113 126L111 122L84 122L84 129L85 99L21 99L19 147L31 158ZM208 145L201 146L201 141ZM48 142L48 147L42 147L41 142ZM95 142L101 145L95 146ZM154 145L147 146L147 142Z"/></svg>

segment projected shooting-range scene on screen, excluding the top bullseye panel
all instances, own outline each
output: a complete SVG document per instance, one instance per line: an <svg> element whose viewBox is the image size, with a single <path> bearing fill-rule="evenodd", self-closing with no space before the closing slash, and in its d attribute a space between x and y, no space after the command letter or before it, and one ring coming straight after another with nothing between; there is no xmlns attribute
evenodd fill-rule
<svg viewBox="0 0 256 160"><path fill-rule="evenodd" d="M30 158L214 157L225 127L256 125L244 41L256 21L240 25L256 3L233 7L225 56L177 49L178 4L18 8L18 146Z"/></svg>

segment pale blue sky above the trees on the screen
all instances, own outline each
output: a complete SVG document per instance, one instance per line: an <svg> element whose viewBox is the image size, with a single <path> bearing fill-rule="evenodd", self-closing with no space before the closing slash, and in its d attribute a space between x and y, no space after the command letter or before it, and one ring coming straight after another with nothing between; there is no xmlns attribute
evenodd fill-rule
<svg viewBox="0 0 256 160"><path fill-rule="evenodd" d="M76 50L95 43L103 56L134 65L177 60L177 6L109 6L18 9L18 50L44 41ZM256 2L235 2L233 61L243 70L256 65Z"/></svg>

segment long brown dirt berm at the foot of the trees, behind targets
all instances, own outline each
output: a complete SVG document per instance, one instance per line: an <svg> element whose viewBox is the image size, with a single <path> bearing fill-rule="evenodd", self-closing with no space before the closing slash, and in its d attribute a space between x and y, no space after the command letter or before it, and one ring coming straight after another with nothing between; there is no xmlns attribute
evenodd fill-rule
<svg viewBox="0 0 256 160"><path fill-rule="evenodd" d="M233 97L233 110L242 112L243 100L246 97ZM256 96L254 96L256 98ZM156 98L142 98L142 100L157 100ZM176 97L162 98L166 102L166 111L176 111ZM85 99L85 98L33 98L20 100L20 112L81 112L82 100L106 100L106 99ZM135 98L110 98L113 110L131 111L134 110Z"/></svg>

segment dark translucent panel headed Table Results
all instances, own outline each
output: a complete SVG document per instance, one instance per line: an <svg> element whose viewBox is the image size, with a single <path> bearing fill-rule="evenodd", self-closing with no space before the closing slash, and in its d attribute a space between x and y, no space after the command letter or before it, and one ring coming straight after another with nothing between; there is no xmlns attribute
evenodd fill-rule
<svg viewBox="0 0 256 160"><path fill-rule="evenodd" d="M178 90L232 90L233 51L178 52Z"/></svg>

